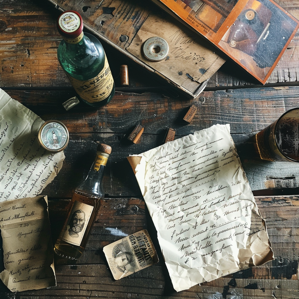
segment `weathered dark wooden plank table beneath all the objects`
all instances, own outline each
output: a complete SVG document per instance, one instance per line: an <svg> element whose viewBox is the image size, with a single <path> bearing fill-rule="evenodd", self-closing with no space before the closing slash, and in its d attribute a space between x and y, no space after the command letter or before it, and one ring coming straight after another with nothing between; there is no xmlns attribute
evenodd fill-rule
<svg viewBox="0 0 299 299"><path fill-rule="evenodd" d="M68 1L68 5L82 6L84 11L88 10L89 2L103 1ZM134 1L127 2L128 16L135 4ZM149 1L144 3L149 9L158 10ZM277 0L277 3L299 18L298 1ZM1 299L299 298L298 165L261 161L251 142L252 136L283 112L299 106L299 33L265 86L227 61L196 100L181 96L176 89L171 89L103 42L116 83L114 98L99 109L80 103L66 112L62 103L75 94L57 61L58 15L59 11L48 1L1 0L0 87L43 120L62 121L70 132L63 167L43 191L49 198L53 242L62 226L72 192L85 178L94 159L97 141L112 146L104 178L105 200L101 203L86 250L77 263L66 264L55 258L56 287L12 293L0 282ZM128 87L120 85L122 64L129 66ZM186 125L182 118L192 104L198 107L198 112ZM138 123L145 130L139 142L133 144L127 137ZM159 250L154 225L126 157L161 145L168 127L176 129L176 138L179 138L216 123L231 125L231 135L242 165L267 223L275 260L176 292ZM103 246L120 239L123 234L144 228L155 242L160 262L114 280L107 267Z"/></svg>

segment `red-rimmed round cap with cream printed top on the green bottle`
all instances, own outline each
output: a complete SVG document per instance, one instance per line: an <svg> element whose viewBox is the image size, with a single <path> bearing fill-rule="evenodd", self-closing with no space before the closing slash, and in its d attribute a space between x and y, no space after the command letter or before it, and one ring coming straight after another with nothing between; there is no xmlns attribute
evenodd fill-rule
<svg viewBox="0 0 299 299"><path fill-rule="evenodd" d="M83 31L83 21L77 11L66 10L57 19L59 33L67 39L77 38Z"/></svg>

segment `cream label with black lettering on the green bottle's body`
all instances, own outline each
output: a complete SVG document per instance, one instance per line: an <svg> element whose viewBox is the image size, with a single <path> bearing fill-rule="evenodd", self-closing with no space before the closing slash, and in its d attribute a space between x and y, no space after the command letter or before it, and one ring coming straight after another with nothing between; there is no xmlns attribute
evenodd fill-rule
<svg viewBox="0 0 299 299"><path fill-rule="evenodd" d="M81 99L89 103L95 103L105 100L113 89L113 77L110 71L107 57L105 55L105 65L100 74L88 81L81 81L68 75L68 79L74 86Z"/></svg>

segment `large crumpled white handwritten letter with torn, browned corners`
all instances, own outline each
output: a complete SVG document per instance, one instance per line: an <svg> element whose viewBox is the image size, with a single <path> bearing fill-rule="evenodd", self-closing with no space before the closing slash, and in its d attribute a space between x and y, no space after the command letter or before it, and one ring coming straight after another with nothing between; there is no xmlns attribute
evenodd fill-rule
<svg viewBox="0 0 299 299"><path fill-rule="evenodd" d="M273 260L228 124L128 160L176 291Z"/></svg>

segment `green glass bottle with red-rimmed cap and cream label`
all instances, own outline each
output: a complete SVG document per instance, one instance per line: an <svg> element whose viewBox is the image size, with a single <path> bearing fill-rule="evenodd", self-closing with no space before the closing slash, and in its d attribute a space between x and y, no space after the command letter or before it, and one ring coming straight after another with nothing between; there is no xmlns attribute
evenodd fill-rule
<svg viewBox="0 0 299 299"><path fill-rule="evenodd" d="M115 85L101 43L83 33L82 17L73 10L58 17L57 29L63 38L57 57L78 96L94 107L107 104L114 96Z"/></svg>

